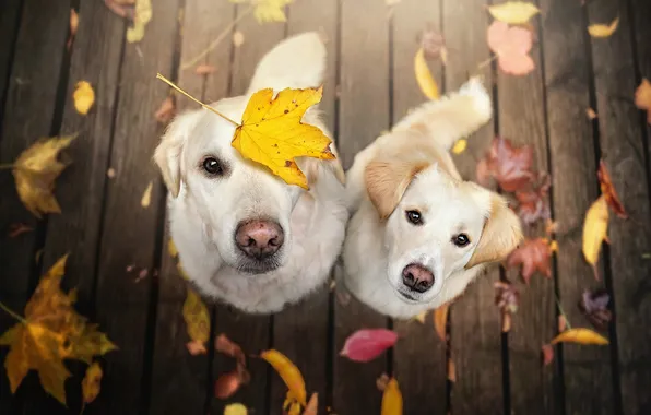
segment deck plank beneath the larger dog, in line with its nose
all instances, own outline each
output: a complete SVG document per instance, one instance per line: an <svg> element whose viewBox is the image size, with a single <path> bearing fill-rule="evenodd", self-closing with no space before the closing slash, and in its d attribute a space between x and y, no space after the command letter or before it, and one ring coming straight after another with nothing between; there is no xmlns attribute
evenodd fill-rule
<svg viewBox="0 0 651 415"><path fill-rule="evenodd" d="M248 5L238 5L238 17L247 9ZM236 28L242 33L245 42L235 49L233 57L230 71L232 90L229 92L232 96L246 92L260 58L282 40L285 35L285 24L261 24L252 15L242 17ZM246 315L232 310L227 306L217 307L216 313L216 332L228 335L242 347L245 353L257 354L271 346L273 324L271 317ZM213 365L213 375L215 378L233 368L234 363L232 358L221 354L215 356ZM261 359L249 359L249 370L251 372L251 382L241 388L226 402L214 400L211 406L212 413L223 413L224 405L230 402L241 402L256 413L269 412L268 379L271 376L269 365Z"/></svg>

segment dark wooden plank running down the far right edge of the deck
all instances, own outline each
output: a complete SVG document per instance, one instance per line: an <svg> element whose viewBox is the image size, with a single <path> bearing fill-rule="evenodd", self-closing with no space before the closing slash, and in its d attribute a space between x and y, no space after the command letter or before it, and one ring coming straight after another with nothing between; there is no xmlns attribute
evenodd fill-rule
<svg viewBox="0 0 651 415"><path fill-rule="evenodd" d="M646 171L646 146L640 117L630 104L637 87L631 42L631 15L618 3L588 4L590 23L619 16L619 28L608 38L592 39L592 62L597 103L600 144L630 218L611 220L611 283L614 292L623 413L651 408L651 333L641 330L651 319L651 214ZM607 263L607 262L606 262ZM606 274L606 282L608 282ZM615 408L617 410L617 408Z"/></svg>

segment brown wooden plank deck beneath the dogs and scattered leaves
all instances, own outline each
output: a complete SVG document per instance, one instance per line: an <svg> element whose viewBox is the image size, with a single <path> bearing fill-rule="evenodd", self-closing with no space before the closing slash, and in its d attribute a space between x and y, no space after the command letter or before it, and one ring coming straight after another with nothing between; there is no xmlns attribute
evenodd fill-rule
<svg viewBox="0 0 651 415"><path fill-rule="evenodd" d="M451 308L449 344L431 318L392 322L324 287L309 300L273 317L251 317L212 306L213 332L226 333L248 353L274 347L303 370L319 392L320 414L380 414L376 379L398 377L405 414L651 414L651 130L632 102L651 78L649 0L537 0L534 72L526 76L483 70L493 84L496 117L455 156L460 170L474 166L495 134L534 147L535 163L553 177L553 217L563 228L554 277L529 286L497 268ZM344 166L377 134L425 98L413 73L417 38L427 23L450 49L433 70L445 91L459 87L489 58L485 0L296 0L285 24L241 19L245 43L227 39L205 58L217 67L208 78L180 62L203 50L242 5L226 0L154 0L144 39L125 40L126 22L100 0L2 0L0 3L0 164L11 163L39 137L79 132L68 154L74 163L57 182L63 213L36 221L19 201L13 177L0 171L0 300L22 310L38 276L71 252L67 287L79 286L79 309L120 347L104 361L105 378L87 414L222 414L213 381L230 360L211 352L193 357L185 347L182 281L165 248L165 188L151 162L163 127L154 111L167 88L162 72L204 100L245 91L258 59L284 37L319 31L328 39L329 69L322 108L335 132ZM80 14L73 47L66 48L70 8ZM180 11L184 11L180 13ZM617 32L593 39L588 22L619 15ZM94 109L76 114L71 92L80 80L96 92ZM192 104L178 100L180 107ZM589 120L587 108L596 120ZM581 254L581 224L599 195L596 166L604 157L631 217L612 220L595 282ZM107 169L114 168L114 178ZM140 205L154 181L152 204ZM7 237L11 224L34 232ZM531 230L530 235L538 232ZM42 252L39 261L35 256ZM138 269L158 276L135 282ZM341 272L336 266L334 273ZM500 332L493 283L509 276L522 298L508 334ZM557 332L559 304L575 325L589 323L577 308L583 289L603 286L613 296L609 346L564 345L554 364L541 346ZM12 320L0 313L0 332ZM392 327L402 339L386 357L356 364L339 357L345 337L365 327ZM7 348L0 351L4 358ZM455 364L448 380L447 358ZM70 365L69 410L46 395L34 374L11 395L0 372L0 414L78 414L84 367ZM252 359L248 387L228 402L252 414L281 414L285 387L267 364Z"/></svg>

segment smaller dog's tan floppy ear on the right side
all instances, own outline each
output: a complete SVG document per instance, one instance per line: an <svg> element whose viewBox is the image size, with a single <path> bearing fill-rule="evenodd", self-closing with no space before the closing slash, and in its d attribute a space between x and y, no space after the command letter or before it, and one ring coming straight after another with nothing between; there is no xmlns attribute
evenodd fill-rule
<svg viewBox="0 0 651 415"><path fill-rule="evenodd" d="M509 209L506 199L492 192L489 216L484 224L480 244L465 269L504 260L521 240L520 218Z"/></svg>

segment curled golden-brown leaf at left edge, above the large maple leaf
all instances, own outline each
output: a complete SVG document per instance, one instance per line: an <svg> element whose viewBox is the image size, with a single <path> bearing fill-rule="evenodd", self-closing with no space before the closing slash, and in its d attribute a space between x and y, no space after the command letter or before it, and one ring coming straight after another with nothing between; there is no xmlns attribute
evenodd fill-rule
<svg viewBox="0 0 651 415"><path fill-rule="evenodd" d="M19 197L25 208L38 218L43 213L61 213L52 191L55 180L68 163L59 162L58 157L75 137L39 139L22 152L13 164L13 177Z"/></svg>

